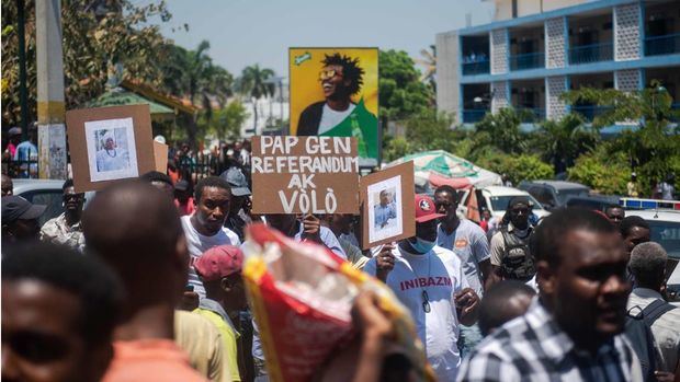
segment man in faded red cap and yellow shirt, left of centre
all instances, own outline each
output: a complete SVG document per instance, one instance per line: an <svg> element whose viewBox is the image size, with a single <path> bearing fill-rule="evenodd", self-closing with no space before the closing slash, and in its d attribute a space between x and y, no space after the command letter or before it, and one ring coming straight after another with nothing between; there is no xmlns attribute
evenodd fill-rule
<svg viewBox="0 0 680 382"><path fill-rule="evenodd" d="M241 380L237 347L240 334L234 322L238 322L239 312L248 308L242 264L243 253L233 245L214 246L194 263L205 288L205 299L194 312L209 320L222 334L233 381Z"/></svg>

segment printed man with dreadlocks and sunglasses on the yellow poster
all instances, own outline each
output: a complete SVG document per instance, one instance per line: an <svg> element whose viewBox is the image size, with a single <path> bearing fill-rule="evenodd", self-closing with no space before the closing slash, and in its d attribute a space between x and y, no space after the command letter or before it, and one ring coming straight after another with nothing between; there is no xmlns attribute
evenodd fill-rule
<svg viewBox="0 0 680 382"><path fill-rule="evenodd" d="M298 136L317 136L340 125L356 107L352 95L359 93L363 84L364 70L359 59L335 54L326 55L319 83L325 101L314 103L299 115Z"/></svg>

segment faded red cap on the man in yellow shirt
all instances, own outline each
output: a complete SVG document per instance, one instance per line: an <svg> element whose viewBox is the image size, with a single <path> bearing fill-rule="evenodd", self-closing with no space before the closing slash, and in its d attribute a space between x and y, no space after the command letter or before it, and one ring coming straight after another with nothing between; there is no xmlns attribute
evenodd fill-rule
<svg viewBox="0 0 680 382"><path fill-rule="evenodd" d="M218 245L203 253L194 263L194 269L205 281L219 280L241 271L243 253L238 246Z"/></svg>

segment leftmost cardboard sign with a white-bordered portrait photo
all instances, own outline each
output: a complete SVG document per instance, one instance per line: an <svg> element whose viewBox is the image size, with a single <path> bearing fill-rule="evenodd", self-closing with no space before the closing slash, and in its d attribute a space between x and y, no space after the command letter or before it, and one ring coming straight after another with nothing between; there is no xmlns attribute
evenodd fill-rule
<svg viewBox="0 0 680 382"><path fill-rule="evenodd" d="M66 128L77 193L156 169L149 105L68 111Z"/></svg>

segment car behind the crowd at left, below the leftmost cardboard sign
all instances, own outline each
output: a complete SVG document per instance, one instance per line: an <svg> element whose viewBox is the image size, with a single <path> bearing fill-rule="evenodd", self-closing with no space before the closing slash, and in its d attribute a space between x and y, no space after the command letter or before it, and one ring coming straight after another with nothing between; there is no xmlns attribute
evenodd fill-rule
<svg viewBox="0 0 680 382"><path fill-rule="evenodd" d="M45 205L45 213L38 222L43 225L47 220L64 212L61 186L64 181L57 180L12 180L14 195L21 196L34 205ZM94 196L93 192L86 193L86 204Z"/></svg>

